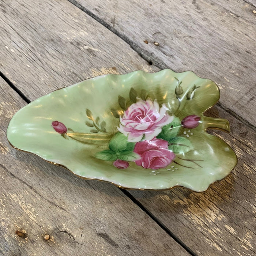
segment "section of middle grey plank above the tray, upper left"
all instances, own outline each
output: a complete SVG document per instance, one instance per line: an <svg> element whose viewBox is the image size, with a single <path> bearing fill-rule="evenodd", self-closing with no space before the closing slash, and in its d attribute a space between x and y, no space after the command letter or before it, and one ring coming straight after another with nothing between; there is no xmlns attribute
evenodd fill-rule
<svg viewBox="0 0 256 256"><path fill-rule="evenodd" d="M31 100L92 76L158 70L67 1L7 1L0 10L0 70Z"/></svg>

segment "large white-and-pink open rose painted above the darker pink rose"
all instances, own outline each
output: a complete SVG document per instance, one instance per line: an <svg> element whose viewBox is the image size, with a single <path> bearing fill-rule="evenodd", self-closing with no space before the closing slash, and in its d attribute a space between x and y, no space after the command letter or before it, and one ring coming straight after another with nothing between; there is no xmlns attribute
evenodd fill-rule
<svg viewBox="0 0 256 256"><path fill-rule="evenodd" d="M120 127L118 131L128 136L128 142L139 142L143 135L146 140L151 140L161 132L161 127L169 124L173 120L166 112L165 104L162 108L158 102L150 99L143 101L138 99L133 103L123 116L120 116Z"/></svg>

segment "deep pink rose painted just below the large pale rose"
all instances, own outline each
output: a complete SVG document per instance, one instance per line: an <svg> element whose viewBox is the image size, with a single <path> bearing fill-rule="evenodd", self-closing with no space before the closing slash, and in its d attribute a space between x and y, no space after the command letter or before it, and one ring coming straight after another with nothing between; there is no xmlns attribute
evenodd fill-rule
<svg viewBox="0 0 256 256"><path fill-rule="evenodd" d="M165 168L175 158L175 154L168 150L168 142L162 139L137 142L134 152L141 156L140 160L135 161L136 165L143 168Z"/></svg>

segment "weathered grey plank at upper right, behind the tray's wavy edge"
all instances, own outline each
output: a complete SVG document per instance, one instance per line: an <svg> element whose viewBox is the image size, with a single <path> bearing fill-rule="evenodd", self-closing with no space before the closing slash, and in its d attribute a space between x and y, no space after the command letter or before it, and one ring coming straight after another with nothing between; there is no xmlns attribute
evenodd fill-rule
<svg viewBox="0 0 256 256"><path fill-rule="evenodd" d="M70 1L158 67L192 70L218 83L219 105L256 125L255 6L243 0Z"/></svg>

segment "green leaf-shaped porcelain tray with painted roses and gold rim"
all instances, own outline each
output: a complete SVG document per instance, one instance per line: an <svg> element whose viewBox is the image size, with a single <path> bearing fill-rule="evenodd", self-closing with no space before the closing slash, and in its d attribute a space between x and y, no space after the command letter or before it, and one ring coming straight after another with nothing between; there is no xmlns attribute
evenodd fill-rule
<svg viewBox="0 0 256 256"><path fill-rule="evenodd" d="M217 85L191 71L97 76L20 109L7 138L81 178L200 192L237 163L234 151L206 132L229 131L227 120L203 116L218 100Z"/></svg>

